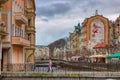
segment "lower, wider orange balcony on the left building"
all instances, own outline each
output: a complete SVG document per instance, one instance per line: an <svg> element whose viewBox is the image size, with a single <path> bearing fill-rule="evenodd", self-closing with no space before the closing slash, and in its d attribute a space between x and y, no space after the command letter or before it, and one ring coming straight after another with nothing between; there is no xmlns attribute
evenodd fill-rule
<svg viewBox="0 0 120 80"><path fill-rule="evenodd" d="M12 37L12 44L14 45L22 45L22 46L30 46L30 41L26 40L22 37L13 36Z"/></svg>

